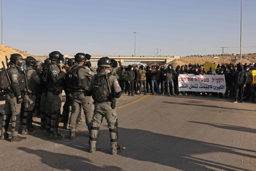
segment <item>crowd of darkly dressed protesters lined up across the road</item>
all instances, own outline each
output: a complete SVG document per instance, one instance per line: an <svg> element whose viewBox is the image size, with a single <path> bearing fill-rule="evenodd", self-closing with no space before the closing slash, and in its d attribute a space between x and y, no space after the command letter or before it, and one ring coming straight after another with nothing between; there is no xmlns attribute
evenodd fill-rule
<svg viewBox="0 0 256 171"><path fill-rule="evenodd" d="M118 68L116 76L119 80L122 93L134 96L142 94L142 86L144 88L144 95L151 92L152 95L202 95L219 98L234 99L234 103L243 101L250 101L255 103L255 84L253 84L252 71L256 70L256 64L217 64L216 68L210 67L205 71L203 64L184 64L177 65L176 68L172 64L168 67L165 65L152 65L138 67L137 65L128 65ZM179 91L178 76L180 74L194 74L194 75L225 75L226 92L193 92L193 91ZM159 91L159 89L161 91Z"/></svg>

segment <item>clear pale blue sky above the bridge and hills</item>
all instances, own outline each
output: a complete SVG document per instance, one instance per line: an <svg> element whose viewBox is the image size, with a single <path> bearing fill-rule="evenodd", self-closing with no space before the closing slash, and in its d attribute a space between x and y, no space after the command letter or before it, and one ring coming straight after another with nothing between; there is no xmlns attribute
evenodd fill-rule
<svg viewBox="0 0 256 171"><path fill-rule="evenodd" d="M240 0L3 0L4 45L44 55L187 56L240 46ZM256 46L256 0L243 0L242 46ZM225 52L240 53L239 48ZM242 53L254 53L243 48Z"/></svg>

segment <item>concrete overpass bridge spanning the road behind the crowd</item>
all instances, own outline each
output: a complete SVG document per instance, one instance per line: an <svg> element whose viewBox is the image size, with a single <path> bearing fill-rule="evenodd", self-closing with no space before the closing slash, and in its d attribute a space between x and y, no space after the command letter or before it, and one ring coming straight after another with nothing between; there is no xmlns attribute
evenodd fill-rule
<svg viewBox="0 0 256 171"><path fill-rule="evenodd" d="M68 58L73 58L75 55L64 55ZM179 59L180 56L133 56L133 55L92 55L90 61L98 61L100 58L108 56L110 59L115 59L119 64L123 64L124 62L136 62L136 61L143 61L143 62L165 62L166 64L175 60Z"/></svg>

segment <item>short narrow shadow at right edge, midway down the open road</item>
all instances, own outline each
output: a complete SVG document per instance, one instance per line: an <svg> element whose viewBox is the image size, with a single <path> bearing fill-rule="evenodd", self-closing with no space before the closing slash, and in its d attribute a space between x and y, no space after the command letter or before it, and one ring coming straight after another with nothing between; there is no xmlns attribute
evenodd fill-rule
<svg viewBox="0 0 256 171"><path fill-rule="evenodd" d="M227 130L236 130L236 131L249 132L249 133L254 133L254 134L256 133L256 129L247 128L247 127L243 127L243 126L226 125L226 124L211 123L211 122L196 122L196 121L188 121L188 122L214 126L216 128L227 129Z"/></svg>

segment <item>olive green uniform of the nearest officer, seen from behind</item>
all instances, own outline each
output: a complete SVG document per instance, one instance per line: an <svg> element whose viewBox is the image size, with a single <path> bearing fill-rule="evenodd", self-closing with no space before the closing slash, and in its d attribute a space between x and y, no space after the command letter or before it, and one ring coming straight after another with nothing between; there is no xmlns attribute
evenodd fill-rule
<svg viewBox="0 0 256 171"><path fill-rule="evenodd" d="M102 74L102 72L100 74ZM95 77L91 79L91 83L88 87L88 91L93 91L94 78ZM116 77L113 75L110 75L109 77L109 86L111 87L111 90L114 91L115 93L118 93L121 91L118 81ZM96 147L97 135L100 129L100 124L102 122L103 117L105 117L105 119L108 122L109 134L111 139L111 148L119 149L118 129L117 129L118 122L117 122L116 109L112 109L111 103L112 103L111 101L106 101L103 103L97 103L97 102L95 103L94 114L93 114L92 123L91 123L90 148Z"/></svg>

